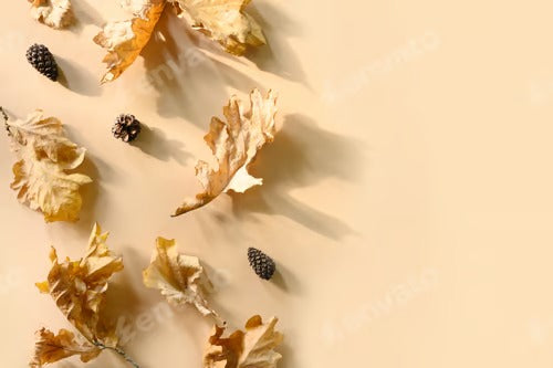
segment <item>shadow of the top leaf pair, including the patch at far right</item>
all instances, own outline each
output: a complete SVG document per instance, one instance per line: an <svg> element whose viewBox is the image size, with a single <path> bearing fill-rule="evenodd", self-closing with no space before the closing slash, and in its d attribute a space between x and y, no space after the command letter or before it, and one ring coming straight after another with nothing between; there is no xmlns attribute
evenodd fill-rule
<svg viewBox="0 0 553 368"><path fill-rule="evenodd" d="M254 17L260 19L258 15ZM280 14L273 20L274 24L279 24L279 21L290 24ZM273 33L268 25L267 36L271 45L261 46L249 56L262 70L303 82L304 73L300 62L284 41L286 34L279 32L275 30ZM218 115L228 101L229 87L248 92L264 86L261 81L210 59L202 50L243 63L243 59L226 53L218 43L191 30L168 9L142 56L147 78L158 94L158 114L164 117L181 117L206 128L210 116ZM280 59L275 57L276 54L281 55Z"/></svg>

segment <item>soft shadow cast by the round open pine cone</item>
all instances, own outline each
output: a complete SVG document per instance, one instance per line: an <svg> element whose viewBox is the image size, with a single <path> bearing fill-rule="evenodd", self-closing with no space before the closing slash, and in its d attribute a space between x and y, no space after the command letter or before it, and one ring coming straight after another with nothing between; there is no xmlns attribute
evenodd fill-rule
<svg viewBox="0 0 553 368"><path fill-rule="evenodd" d="M185 146L182 141L170 139L164 130L149 127L146 124L142 124L142 132L138 138L132 141L131 145L160 161L168 161L173 158L178 164L186 165L187 160L192 157L192 155L182 149Z"/></svg>

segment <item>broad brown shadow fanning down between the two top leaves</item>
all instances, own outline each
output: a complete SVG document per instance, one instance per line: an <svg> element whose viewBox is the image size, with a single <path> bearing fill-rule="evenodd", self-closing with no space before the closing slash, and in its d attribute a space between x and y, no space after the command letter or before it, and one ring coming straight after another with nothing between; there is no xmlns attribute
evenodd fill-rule
<svg viewBox="0 0 553 368"><path fill-rule="evenodd" d="M181 117L205 129L211 113L228 99L228 85L244 91L258 83L209 59L200 48L213 48L212 42L196 33L166 11L142 55L147 82L157 93L158 114Z"/></svg>

